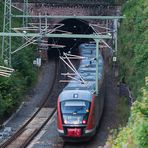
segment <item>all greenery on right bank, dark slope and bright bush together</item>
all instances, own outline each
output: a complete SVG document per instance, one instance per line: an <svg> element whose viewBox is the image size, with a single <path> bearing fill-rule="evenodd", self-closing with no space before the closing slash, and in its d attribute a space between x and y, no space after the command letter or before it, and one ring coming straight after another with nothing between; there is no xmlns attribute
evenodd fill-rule
<svg viewBox="0 0 148 148"><path fill-rule="evenodd" d="M148 147L148 1L129 0L119 34L120 74L136 96L127 126L109 139L111 147Z"/></svg>

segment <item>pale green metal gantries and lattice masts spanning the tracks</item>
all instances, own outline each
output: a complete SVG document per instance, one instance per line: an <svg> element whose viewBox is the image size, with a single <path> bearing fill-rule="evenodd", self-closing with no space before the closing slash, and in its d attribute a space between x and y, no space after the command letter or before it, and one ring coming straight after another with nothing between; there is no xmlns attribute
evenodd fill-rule
<svg viewBox="0 0 148 148"><path fill-rule="evenodd" d="M47 38L85 38L85 39L94 39L96 43L96 95L98 95L98 65L99 65L99 48L100 42L107 43L104 41L105 39L112 39L112 36L109 32L105 34L101 34L94 30L93 34L69 34L68 32L61 32L61 34L55 34L54 31L58 28L55 27L53 29L48 29L47 19L84 19L84 20L113 20L115 22L115 28L112 30L114 34L115 40L115 51L117 51L117 21L118 19L124 18L122 16L49 16L49 15L36 15L31 16L28 14L28 0L24 0L23 7L23 15L13 15L11 13L11 0L5 0L5 9L4 9L4 25L3 32L0 32L0 36L3 37L2 40L2 59L4 63L11 66L11 56L17 51L23 49L24 47L37 43L39 40L47 37ZM23 27L20 28L12 28L11 21L12 18L22 18L23 19ZM28 27L28 19L36 18L39 20L39 26ZM41 19L45 19L44 26L41 26ZM15 32L11 32L14 30ZM38 30L38 32L37 32ZM34 31L34 32L33 32ZM26 42L18 47L17 49L11 49L11 38L12 37L22 37L26 39ZM47 44L48 45L48 44ZM48 45L49 46L49 45ZM56 46L56 45L55 45ZM109 46L107 46L109 48Z"/></svg>

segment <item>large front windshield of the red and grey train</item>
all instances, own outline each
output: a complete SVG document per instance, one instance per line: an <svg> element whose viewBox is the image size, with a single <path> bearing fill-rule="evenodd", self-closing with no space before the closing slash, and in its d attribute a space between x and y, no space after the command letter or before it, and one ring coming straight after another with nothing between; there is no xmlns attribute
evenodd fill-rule
<svg viewBox="0 0 148 148"><path fill-rule="evenodd" d="M63 101L61 102L61 112L64 124L87 124L90 110L88 101Z"/></svg>

